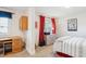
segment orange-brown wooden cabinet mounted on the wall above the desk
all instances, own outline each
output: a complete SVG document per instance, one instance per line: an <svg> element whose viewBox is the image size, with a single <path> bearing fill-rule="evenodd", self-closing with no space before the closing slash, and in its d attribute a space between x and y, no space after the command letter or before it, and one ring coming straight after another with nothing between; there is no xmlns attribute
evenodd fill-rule
<svg viewBox="0 0 86 64"><path fill-rule="evenodd" d="M20 21L20 28L21 30L27 30L28 29L28 17L27 16L22 16Z"/></svg>

